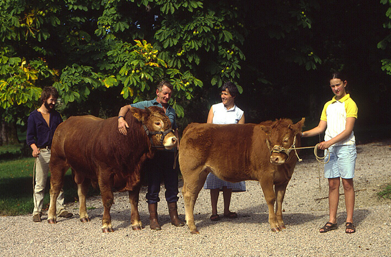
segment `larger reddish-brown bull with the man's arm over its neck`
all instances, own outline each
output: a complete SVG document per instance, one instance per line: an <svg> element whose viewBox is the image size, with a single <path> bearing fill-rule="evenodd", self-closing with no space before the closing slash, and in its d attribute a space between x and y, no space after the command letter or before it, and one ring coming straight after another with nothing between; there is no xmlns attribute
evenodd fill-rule
<svg viewBox="0 0 391 257"><path fill-rule="evenodd" d="M78 187L79 215L89 221L86 194L91 182L99 185L104 207L102 231L112 232L110 208L112 189L129 191L130 222L133 230L142 228L138 213L140 170L152 158L153 146L172 149L177 139L171 122L160 107L145 110L131 108L125 120L128 136L118 132L117 117L70 117L54 133L50 158L50 207L48 222L56 223L56 199L63 187L65 172L70 167Z"/></svg>

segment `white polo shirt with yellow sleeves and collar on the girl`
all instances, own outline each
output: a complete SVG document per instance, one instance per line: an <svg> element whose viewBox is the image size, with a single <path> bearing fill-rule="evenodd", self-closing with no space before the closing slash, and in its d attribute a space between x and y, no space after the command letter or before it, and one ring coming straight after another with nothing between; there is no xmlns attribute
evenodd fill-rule
<svg viewBox="0 0 391 257"><path fill-rule="evenodd" d="M325 141L330 140L340 134L346 128L346 119L348 117L357 118L358 108L356 103L347 94L339 100L334 96L330 101L326 102L323 107L321 120L327 122ZM339 141L333 145L355 144L353 131L346 139Z"/></svg>

